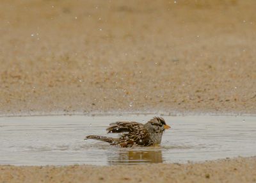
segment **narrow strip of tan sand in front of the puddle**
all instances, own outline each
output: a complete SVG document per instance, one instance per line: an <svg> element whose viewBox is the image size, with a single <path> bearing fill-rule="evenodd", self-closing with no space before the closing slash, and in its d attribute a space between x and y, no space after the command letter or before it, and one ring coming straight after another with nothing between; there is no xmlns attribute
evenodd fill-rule
<svg viewBox="0 0 256 183"><path fill-rule="evenodd" d="M204 164L1 166L1 182L256 182L256 158Z"/></svg>

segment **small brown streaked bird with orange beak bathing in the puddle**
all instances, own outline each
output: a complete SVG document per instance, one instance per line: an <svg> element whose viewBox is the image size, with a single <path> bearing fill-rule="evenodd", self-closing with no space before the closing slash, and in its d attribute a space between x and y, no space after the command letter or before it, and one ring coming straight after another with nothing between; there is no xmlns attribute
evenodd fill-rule
<svg viewBox="0 0 256 183"><path fill-rule="evenodd" d="M163 132L170 129L161 117L154 117L147 123L138 122L115 122L110 123L108 133L121 133L119 138L110 138L107 136L86 136L85 139L97 139L106 141L110 145L120 145L120 147L151 146L161 143Z"/></svg>

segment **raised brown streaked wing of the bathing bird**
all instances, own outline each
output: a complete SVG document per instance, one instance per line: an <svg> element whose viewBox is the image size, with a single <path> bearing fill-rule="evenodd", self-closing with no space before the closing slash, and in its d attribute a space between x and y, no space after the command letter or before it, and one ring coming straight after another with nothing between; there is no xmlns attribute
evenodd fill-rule
<svg viewBox="0 0 256 183"><path fill-rule="evenodd" d="M111 123L108 127L107 132L111 133L122 133L122 132L131 132L131 131L140 131L143 127L142 123L137 122L115 122Z"/></svg>

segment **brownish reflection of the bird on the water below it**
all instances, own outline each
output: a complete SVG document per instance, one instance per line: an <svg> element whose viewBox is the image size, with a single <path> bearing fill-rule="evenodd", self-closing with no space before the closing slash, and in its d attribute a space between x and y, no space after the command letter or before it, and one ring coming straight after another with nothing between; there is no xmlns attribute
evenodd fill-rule
<svg viewBox="0 0 256 183"><path fill-rule="evenodd" d="M143 164L163 163L162 151L157 150L125 150L116 156L109 156L109 164Z"/></svg>

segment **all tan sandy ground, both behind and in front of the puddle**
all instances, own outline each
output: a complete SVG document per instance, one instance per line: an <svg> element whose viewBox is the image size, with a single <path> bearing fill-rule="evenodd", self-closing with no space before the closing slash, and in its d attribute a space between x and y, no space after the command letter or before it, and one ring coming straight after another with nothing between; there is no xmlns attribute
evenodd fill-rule
<svg viewBox="0 0 256 183"><path fill-rule="evenodd" d="M255 5L1 1L0 115L255 114ZM0 182L255 182L255 162L0 166Z"/></svg>

